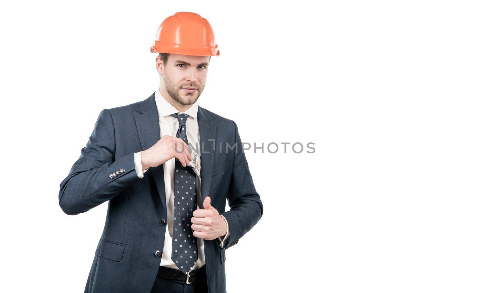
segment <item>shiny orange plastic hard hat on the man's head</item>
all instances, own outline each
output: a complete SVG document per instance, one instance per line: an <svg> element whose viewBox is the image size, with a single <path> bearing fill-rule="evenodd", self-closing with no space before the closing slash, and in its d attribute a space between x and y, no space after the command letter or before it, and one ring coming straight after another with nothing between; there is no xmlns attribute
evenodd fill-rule
<svg viewBox="0 0 488 293"><path fill-rule="evenodd" d="M151 53L220 55L210 23L193 12L177 12L159 26Z"/></svg>

